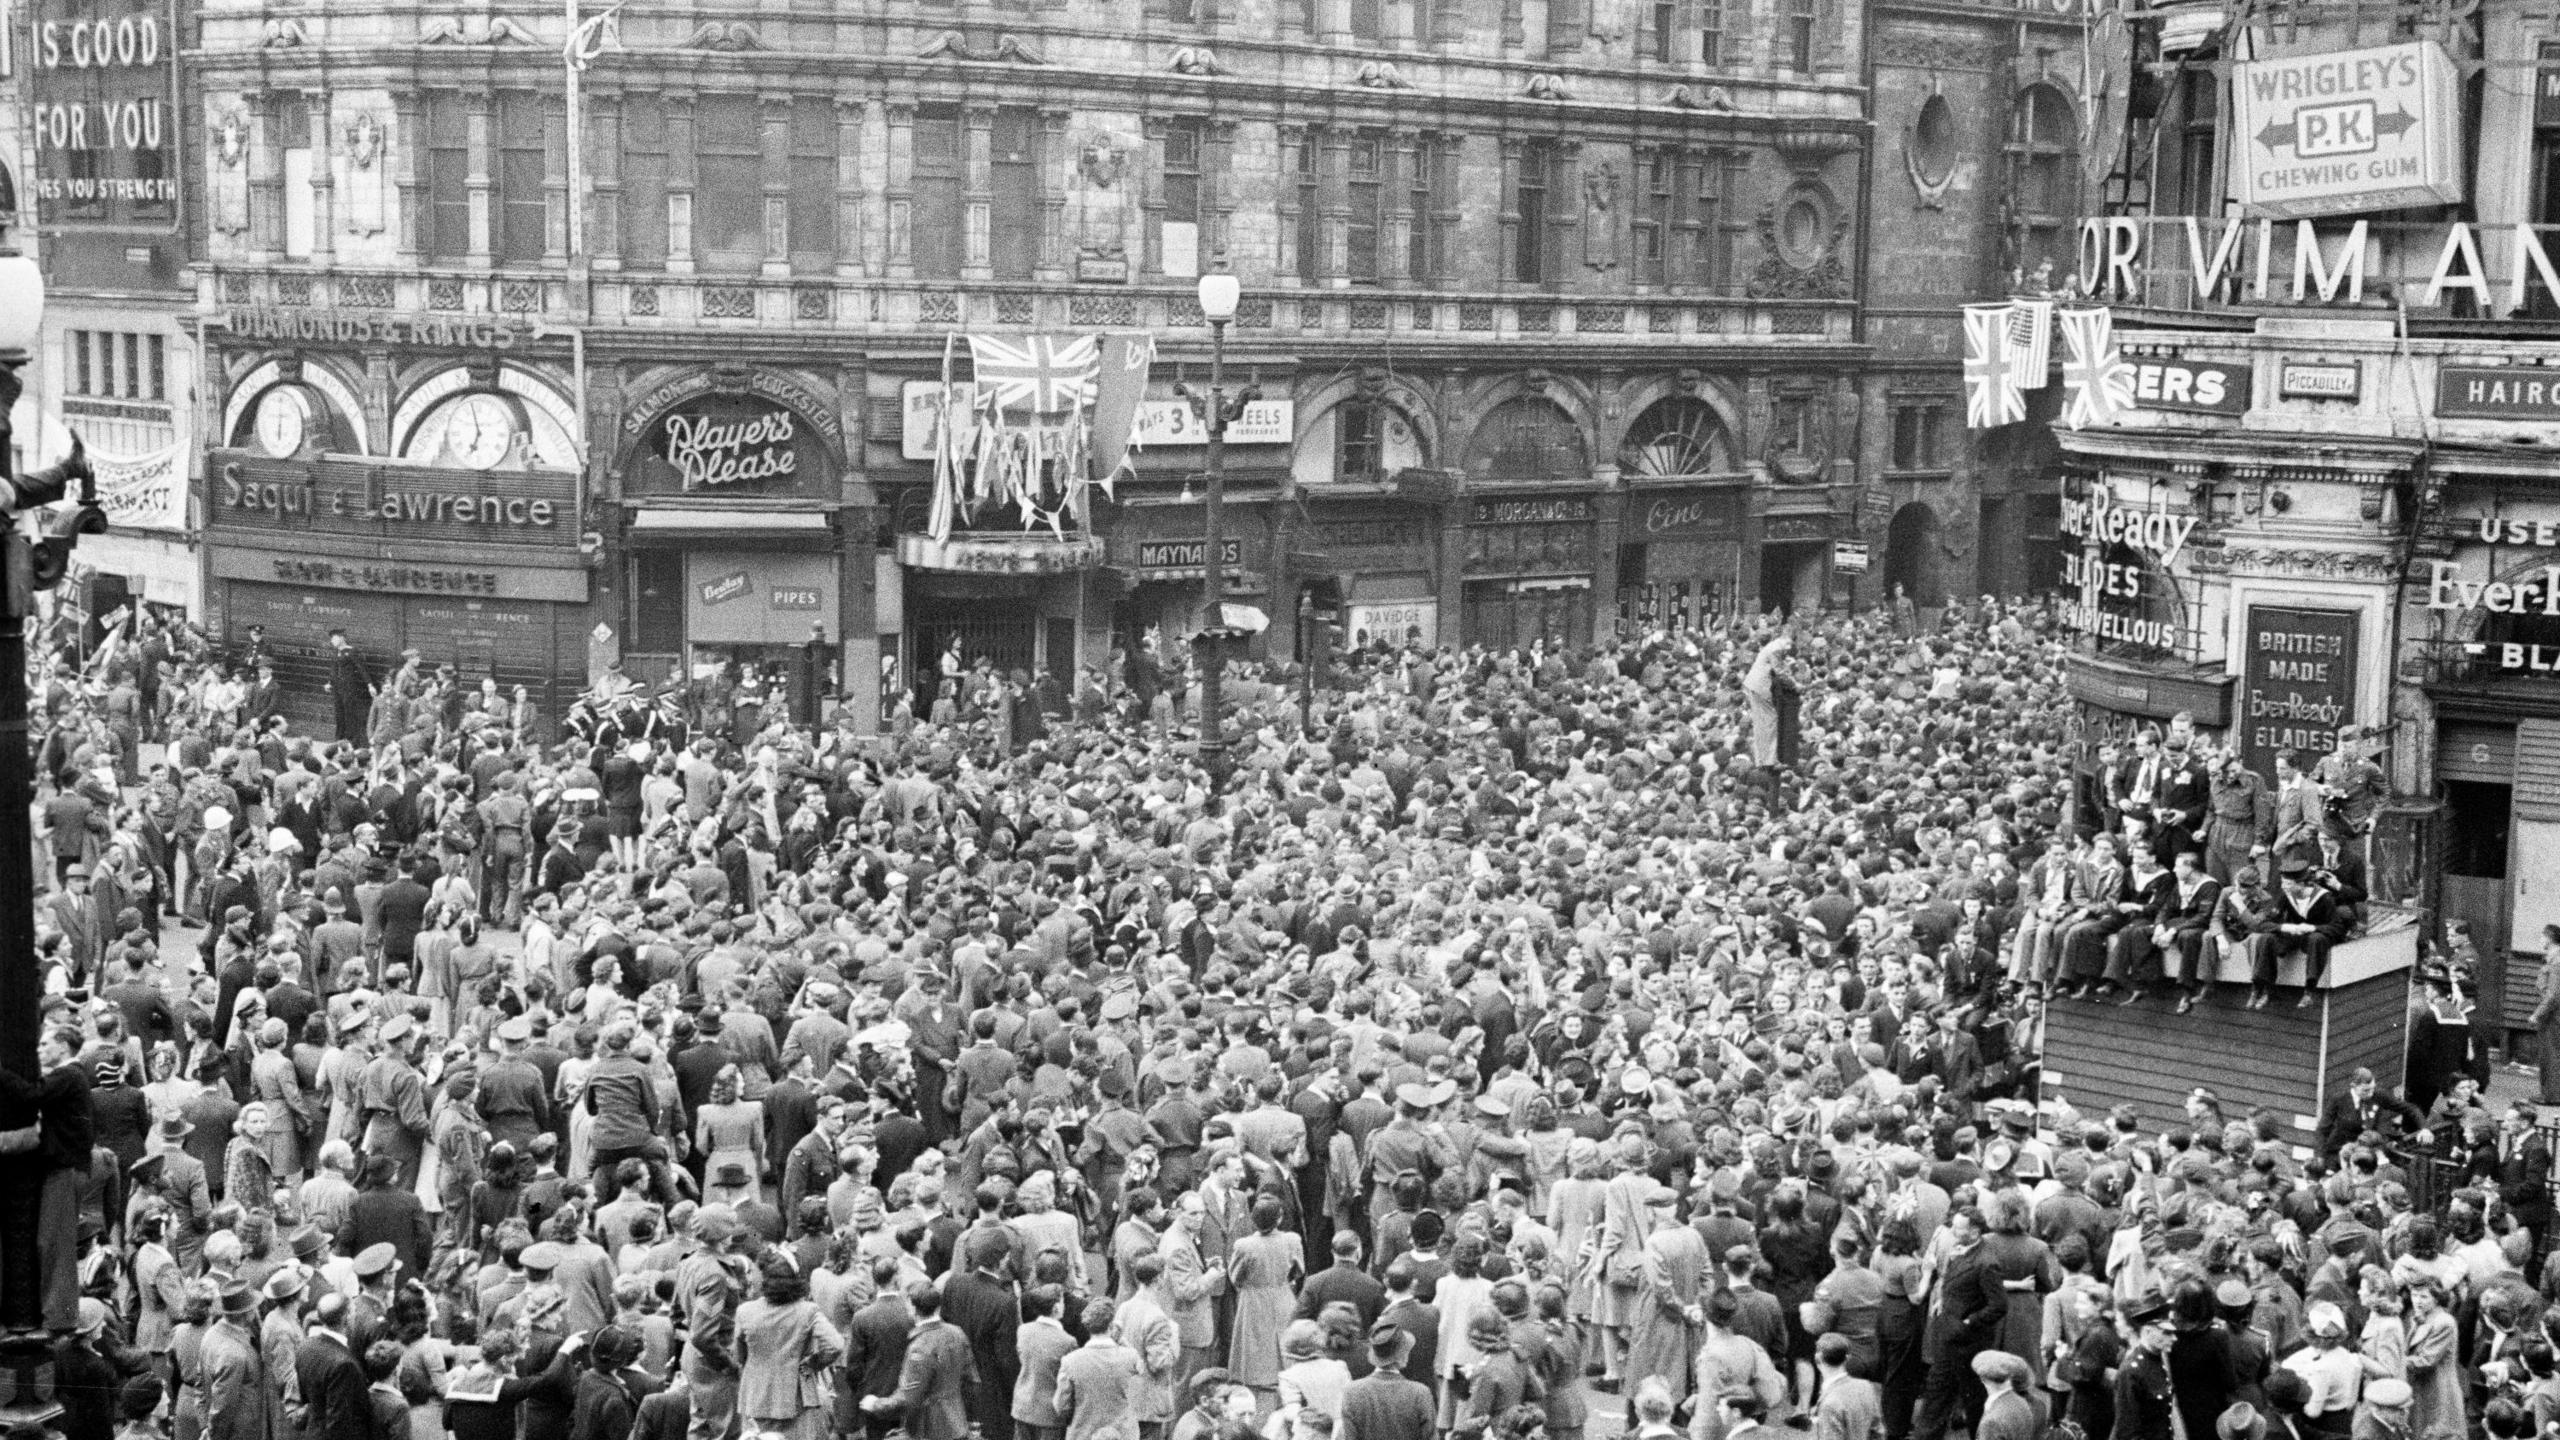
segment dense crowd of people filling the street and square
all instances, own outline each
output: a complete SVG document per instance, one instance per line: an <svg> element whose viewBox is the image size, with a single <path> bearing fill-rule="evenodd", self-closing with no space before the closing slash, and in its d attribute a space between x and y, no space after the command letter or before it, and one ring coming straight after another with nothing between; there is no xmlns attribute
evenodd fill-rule
<svg viewBox="0 0 2560 1440"><path fill-rule="evenodd" d="M2184 723L2076 766L2061 648L1372 646L1239 664L1203 753L1152 651L955 656L881 733L614 671L571 730L338 638L317 738L259 638L125 628L41 694L0 1076L56 1427L2540 1432L2527 1109L2358 1084L2301 1161L2040 1099L2056 992L2317 981L2378 787Z"/></svg>

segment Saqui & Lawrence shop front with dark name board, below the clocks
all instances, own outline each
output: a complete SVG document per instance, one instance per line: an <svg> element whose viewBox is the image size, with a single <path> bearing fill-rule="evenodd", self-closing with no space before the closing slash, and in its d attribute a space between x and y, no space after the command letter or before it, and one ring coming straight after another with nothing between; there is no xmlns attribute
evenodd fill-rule
<svg viewBox="0 0 2560 1440"><path fill-rule="evenodd" d="M259 628L284 712L330 735L330 630L376 682L404 651L466 689L525 687L545 733L586 684L579 482L343 456L210 451L205 602L233 648Z"/></svg>

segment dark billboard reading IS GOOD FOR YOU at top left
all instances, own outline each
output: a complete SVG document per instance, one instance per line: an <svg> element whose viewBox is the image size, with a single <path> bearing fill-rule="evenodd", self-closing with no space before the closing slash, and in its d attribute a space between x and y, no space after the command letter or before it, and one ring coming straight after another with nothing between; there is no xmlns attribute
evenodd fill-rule
<svg viewBox="0 0 2560 1440"><path fill-rule="evenodd" d="M28 0L26 128L41 225L177 225L177 20L169 0ZM0 15L0 26L10 23ZM0 41L5 46L5 41ZM228 131L218 136L228 143ZM246 133L241 133L246 143Z"/></svg>

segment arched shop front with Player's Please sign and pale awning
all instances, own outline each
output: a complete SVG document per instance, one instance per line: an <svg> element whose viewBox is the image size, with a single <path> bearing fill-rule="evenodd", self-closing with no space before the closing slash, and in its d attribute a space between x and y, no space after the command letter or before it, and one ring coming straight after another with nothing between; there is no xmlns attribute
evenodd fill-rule
<svg viewBox="0 0 2560 1440"><path fill-rule="evenodd" d="M873 635L835 405L776 369L686 369L630 405L622 441L625 669L686 684L704 723L822 723Z"/></svg>

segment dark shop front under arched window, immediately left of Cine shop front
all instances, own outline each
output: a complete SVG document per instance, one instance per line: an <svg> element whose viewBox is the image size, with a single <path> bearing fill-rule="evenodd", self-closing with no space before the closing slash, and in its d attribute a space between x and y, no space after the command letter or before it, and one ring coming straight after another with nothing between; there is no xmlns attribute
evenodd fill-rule
<svg viewBox="0 0 2560 1440"><path fill-rule="evenodd" d="M1600 515L1590 495L1472 500L1462 643L1495 651L1592 643Z"/></svg>

